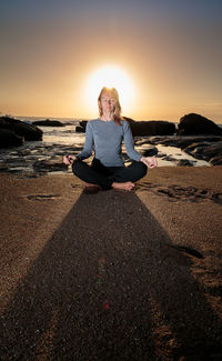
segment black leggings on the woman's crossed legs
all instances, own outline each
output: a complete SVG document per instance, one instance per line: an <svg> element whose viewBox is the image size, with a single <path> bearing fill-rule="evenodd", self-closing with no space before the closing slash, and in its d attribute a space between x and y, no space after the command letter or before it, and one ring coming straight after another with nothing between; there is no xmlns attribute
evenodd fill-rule
<svg viewBox="0 0 222 361"><path fill-rule="evenodd" d="M89 166L81 160L72 163L73 173L84 182L99 184L103 190L111 189L113 182L135 182L147 174L148 168L142 162L132 161L128 167L104 167L97 158Z"/></svg>

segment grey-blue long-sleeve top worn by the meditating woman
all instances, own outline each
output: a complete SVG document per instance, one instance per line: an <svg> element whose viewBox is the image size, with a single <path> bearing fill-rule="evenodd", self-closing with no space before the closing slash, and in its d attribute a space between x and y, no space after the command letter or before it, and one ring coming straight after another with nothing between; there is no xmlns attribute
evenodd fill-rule
<svg viewBox="0 0 222 361"><path fill-rule="evenodd" d="M128 157L139 161L141 154L134 150L132 132L127 120L121 120L121 127L114 120L103 121L98 119L87 123L85 142L78 159L87 159L92 154L105 167L123 167L121 157L122 140L124 140Z"/></svg>

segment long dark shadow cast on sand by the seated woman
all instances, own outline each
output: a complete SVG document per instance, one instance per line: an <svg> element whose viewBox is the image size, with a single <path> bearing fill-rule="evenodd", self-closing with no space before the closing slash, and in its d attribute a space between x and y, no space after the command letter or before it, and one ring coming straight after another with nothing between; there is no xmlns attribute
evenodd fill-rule
<svg viewBox="0 0 222 361"><path fill-rule="evenodd" d="M81 194L1 317L1 360L214 360L221 321L170 244L135 193Z"/></svg>

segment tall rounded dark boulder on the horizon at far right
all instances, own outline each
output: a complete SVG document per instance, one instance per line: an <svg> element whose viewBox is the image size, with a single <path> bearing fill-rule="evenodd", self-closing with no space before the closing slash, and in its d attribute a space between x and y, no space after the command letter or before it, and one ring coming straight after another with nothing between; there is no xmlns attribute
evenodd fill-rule
<svg viewBox="0 0 222 361"><path fill-rule="evenodd" d="M178 132L181 136L222 134L222 129L212 120L196 113L190 113L182 117L178 128Z"/></svg>

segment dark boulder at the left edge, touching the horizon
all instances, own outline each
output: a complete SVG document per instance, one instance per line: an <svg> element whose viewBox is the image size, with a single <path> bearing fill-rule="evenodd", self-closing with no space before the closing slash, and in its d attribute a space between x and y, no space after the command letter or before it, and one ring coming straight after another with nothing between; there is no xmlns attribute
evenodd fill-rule
<svg viewBox="0 0 222 361"><path fill-rule="evenodd" d="M23 137L24 140L42 140L43 134L38 127L10 117L0 118L0 129L11 130L17 136Z"/></svg>

